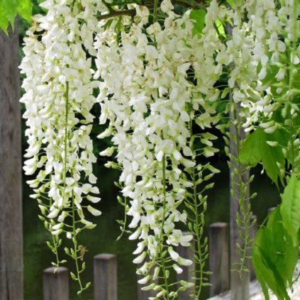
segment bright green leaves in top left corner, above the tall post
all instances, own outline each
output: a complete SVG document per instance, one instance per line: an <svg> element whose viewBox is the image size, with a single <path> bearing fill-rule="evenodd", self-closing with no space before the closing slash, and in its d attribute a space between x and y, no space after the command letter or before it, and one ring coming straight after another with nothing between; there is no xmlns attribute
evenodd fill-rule
<svg viewBox="0 0 300 300"><path fill-rule="evenodd" d="M0 0L0 28L8 34L9 24L13 28L17 15L30 23L32 9L31 0Z"/></svg>

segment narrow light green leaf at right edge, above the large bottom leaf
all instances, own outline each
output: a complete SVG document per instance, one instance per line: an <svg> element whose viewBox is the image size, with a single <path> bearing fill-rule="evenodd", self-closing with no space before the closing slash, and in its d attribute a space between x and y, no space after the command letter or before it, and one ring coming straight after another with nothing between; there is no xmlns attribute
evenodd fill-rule
<svg viewBox="0 0 300 300"><path fill-rule="evenodd" d="M282 213L282 224L296 246L300 228L300 182L294 174L291 174L289 184L282 194L280 212Z"/></svg>

